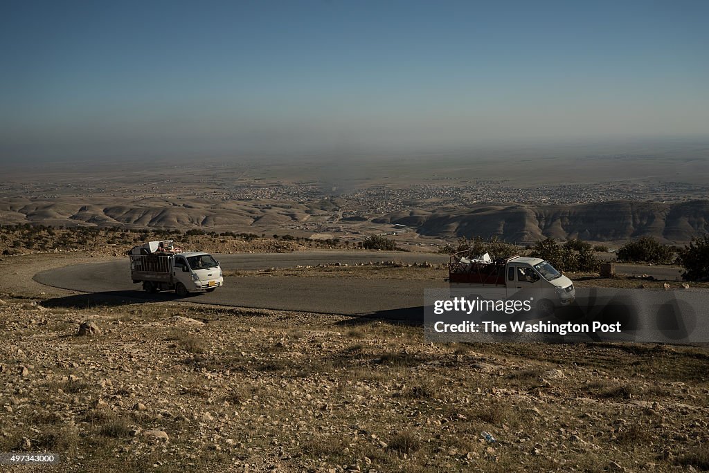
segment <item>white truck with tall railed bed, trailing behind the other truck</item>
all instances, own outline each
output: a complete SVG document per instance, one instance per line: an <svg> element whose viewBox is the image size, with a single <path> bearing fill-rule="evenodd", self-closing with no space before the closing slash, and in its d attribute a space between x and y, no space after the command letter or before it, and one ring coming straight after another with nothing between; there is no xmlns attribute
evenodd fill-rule
<svg viewBox="0 0 709 473"><path fill-rule="evenodd" d="M179 251L172 240L134 246L128 256L130 278L134 284L143 283L147 292L174 290L184 297L193 292L212 292L224 285L216 259L203 251Z"/></svg>

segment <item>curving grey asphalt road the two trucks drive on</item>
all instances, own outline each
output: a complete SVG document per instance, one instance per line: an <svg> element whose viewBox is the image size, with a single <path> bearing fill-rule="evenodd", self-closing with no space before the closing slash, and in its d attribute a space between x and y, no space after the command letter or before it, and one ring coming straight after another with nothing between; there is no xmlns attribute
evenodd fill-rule
<svg viewBox="0 0 709 473"><path fill-rule="evenodd" d="M446 263L447 255L388 251L302 251L296 253L240 253L216 255L224 270L291 268L320 263L366 263L400 260L407 263ZM617 265L618 272L648 273L656 278L674 279L676 268ZM172 293L147 295L130 281L128 260L66 266L35 275L38 283L123 300L177 300ZM225 278L225 285L211 294L188 297L191 302L223 304L330 314L371 314L396 312L423 306L423 290L447 287L445 281L299 278L270 276Z"/></svg>

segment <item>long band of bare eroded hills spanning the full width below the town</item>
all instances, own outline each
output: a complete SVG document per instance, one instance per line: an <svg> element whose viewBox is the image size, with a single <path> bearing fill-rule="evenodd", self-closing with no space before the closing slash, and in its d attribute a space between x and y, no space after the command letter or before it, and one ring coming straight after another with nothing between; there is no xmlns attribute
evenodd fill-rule
<svg viewBox="0 0 709 473"><path fill-rule="evenodd" d="M327 205L323 205L325 202ZM256 234L325 232L340 239L357 235L399 232L411 236L450 239L455 236L499 235L507 241L531 242L552 236L566 240L627 241L654 236L664 243L686 243L709 232L709 200L682 203L618 200L576 205L466 205L447 207L417 204L400 212L360 212L345 200L308 203L290 201L210 199L4 198L4 224L43 224L54 227L122 227L127 229L204 229ZM413 232L411 231L413 230ZM414 233L415 232L415 233Z"/></svg>

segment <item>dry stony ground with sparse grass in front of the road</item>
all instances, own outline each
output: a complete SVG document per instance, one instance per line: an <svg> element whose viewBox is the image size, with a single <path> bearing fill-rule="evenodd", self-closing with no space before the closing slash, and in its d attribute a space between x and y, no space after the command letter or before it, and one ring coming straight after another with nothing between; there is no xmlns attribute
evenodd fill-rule
<svg viewBox="0 0 709 473"><path fill-rule="evenodd" d="M709 469L708 348L432 345L387 319L93 306L28 279L79 259L0 262L0 452L61 455L48 471Z"/></svg>

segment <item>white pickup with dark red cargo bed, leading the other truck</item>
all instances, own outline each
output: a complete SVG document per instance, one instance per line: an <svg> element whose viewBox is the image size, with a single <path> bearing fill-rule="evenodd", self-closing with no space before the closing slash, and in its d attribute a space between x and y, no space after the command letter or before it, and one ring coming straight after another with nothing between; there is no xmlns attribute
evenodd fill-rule
<svg viewBox="0 0 709 473"><path fill-rule="evenodd" d="M463 251L450 257L448 281L451 289L474 290L480 295L503 293L508 299L535 293L537 309L544 314L576 298L574 283L541 258L510 256L492 261L487 253L471 259Z"/></svg>

